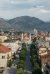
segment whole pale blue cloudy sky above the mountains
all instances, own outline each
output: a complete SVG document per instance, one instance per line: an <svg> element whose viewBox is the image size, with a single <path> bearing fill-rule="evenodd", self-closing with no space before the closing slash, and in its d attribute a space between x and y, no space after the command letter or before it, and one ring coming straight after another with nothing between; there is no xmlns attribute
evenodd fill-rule
<svg viewBox="0 0 50 74"><path fill-rule="evenodd" d="M37 17L50 21L50 0L0 0L0 18Z"/></svg>

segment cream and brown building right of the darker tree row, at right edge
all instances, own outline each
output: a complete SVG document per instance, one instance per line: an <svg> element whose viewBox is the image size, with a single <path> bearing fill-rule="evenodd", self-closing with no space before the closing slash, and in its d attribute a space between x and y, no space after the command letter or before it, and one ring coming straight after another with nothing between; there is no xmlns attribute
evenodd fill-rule
<svg viewBox="0 0 50 74"><path fill-rule="evenodd" d="M42 67L50 62L50 48L40 47L39 48L39 57L41 59Z"/></svg>

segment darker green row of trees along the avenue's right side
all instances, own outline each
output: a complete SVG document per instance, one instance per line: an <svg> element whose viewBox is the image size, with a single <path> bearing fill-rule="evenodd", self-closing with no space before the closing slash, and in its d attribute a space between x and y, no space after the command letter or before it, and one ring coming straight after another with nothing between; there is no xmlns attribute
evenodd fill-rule
<svg viewBox="0 0 50 74"><path fill-rule="evenodd" d="M42 74L41 71L41 61L38 58L38 53L37 53L38 49L36 47L36 42L32 42L31 46L30 46L30 60L31 60L31 64L32 64L32 74Z"/></svg>

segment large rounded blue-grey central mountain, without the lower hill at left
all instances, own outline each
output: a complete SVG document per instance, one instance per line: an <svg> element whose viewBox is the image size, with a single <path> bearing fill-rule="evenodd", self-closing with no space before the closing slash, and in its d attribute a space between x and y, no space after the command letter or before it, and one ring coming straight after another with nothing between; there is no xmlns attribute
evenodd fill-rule
<svg viewBox="0 0 50 74"><path fill-rule="evenodd" d="M19 31L33 32L34 28L38 30L50 31L50 23L44 22L35 17L21 16L8 21L13 28Z"/></svg>

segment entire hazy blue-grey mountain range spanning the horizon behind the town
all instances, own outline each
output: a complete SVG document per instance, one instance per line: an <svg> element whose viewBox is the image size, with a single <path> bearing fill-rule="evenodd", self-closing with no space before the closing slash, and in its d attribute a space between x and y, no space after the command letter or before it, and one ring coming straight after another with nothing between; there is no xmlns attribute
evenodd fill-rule
<svg viewBox="0 0 50 74"><path fill-rule="evenodd" d="M0 18L0 29L15 29L16 31L33 32L33 29L49 31L50 22L44 22L35 17L21 16L8 21Z"/></svg>

